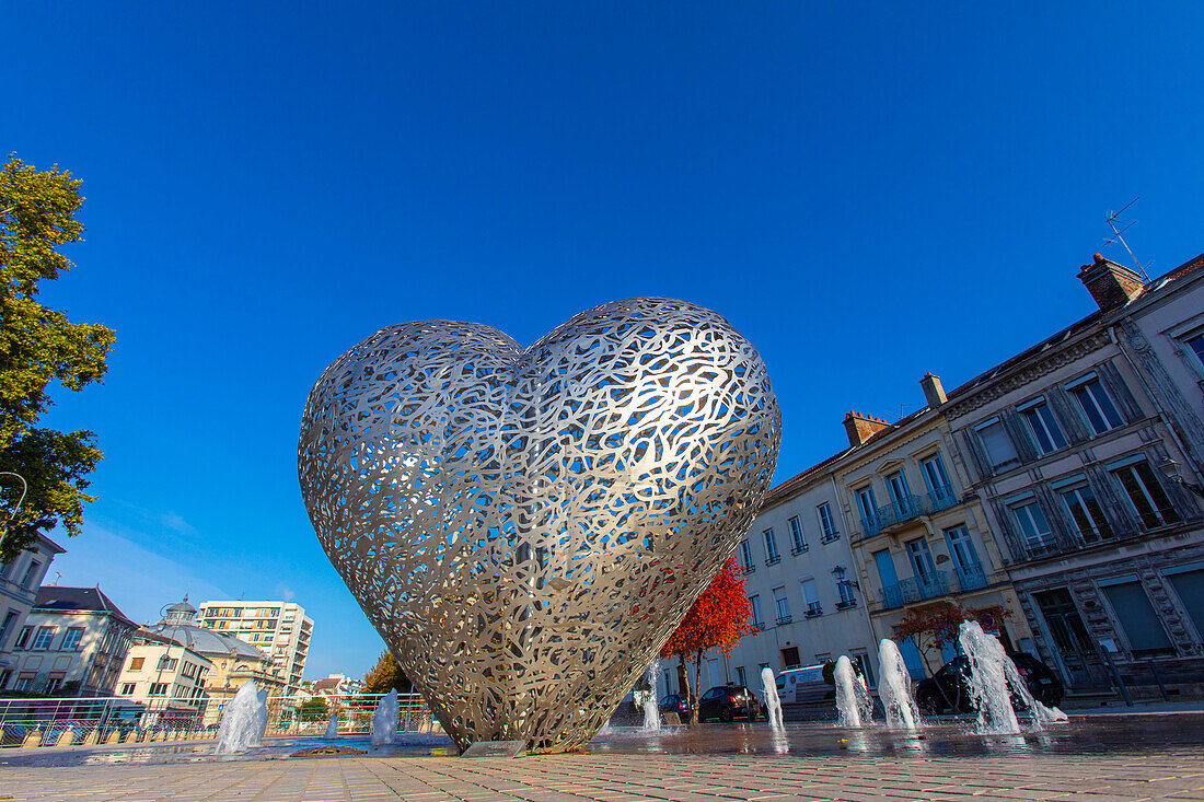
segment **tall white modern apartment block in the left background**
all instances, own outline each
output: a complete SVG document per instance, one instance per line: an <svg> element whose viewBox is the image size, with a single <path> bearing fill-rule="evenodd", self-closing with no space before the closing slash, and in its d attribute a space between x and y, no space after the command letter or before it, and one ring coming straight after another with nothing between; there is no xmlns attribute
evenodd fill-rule
<svg viewBox="0 0 1204 802"><path fill-rule="evenodd" d="M200 607L201 625L261 649L289 696L301 688L309 653L313 619L305 608L279 601L208 601Z"/></svg>

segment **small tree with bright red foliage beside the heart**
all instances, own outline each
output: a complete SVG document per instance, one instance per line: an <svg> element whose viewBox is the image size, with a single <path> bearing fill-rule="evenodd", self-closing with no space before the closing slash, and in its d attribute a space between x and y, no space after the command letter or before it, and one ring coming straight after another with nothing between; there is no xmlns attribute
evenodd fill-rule
<svg viewBox="0 0 1204 802"><path fill-rule="evenodd" d="M698 723L695 688L702 674L703 653L718 648L724 654L731 654L732 647L742 637L756 631L749 621L751 618L752 606L744 591L744 572L736 565L736 558L732 558L694 602L690 612L681 619L681 625L661 649L661 657L677 657L683 667L687 659L694 660L694 688L690 686L690 672L681 672L685 677L691 724Z"/></svg>

